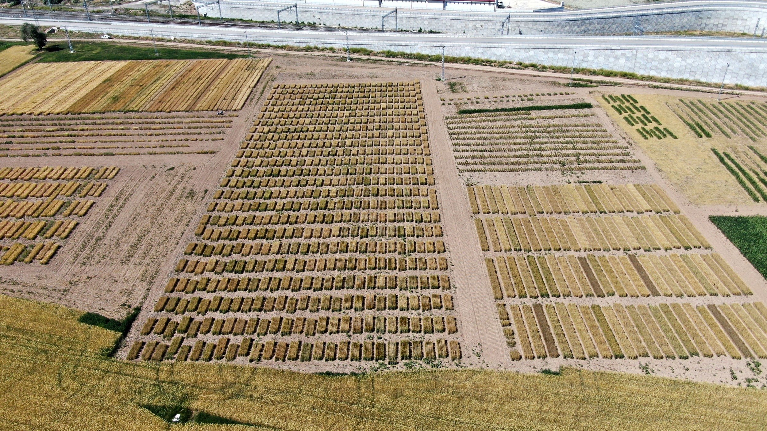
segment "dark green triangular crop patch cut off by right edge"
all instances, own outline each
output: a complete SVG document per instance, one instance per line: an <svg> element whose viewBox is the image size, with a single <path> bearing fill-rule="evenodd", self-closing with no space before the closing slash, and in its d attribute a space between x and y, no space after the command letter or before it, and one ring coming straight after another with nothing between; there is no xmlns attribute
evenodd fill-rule
<svg viewBox="0 0 767 431"><path fill-rule="evenodd" d="M710 216L709 220L767 278L767 217Z"/></svg>

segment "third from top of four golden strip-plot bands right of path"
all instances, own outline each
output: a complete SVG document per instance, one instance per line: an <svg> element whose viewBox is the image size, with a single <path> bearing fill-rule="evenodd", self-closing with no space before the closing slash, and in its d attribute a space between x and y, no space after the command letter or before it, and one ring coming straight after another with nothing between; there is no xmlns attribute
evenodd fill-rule
<svg viewBox="0 0 767 431"><path fill-rule="evenodd" d="M495 299L750 294L717 254L486 258Z"/></svg>

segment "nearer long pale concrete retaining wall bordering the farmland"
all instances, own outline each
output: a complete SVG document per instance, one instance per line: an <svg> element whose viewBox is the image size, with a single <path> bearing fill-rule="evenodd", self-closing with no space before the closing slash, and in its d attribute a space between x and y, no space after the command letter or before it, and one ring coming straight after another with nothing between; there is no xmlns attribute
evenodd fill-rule
<svg viewBox="0 0 767 431"><path fill-rule="evenodd" d="M9 21L9 20L0 20ZM181 25L139 25L95 22L59 23L70 31L108 31L114 35L148 37L150 28L160 38L188 38L244 42L242 31ZM55 25L52 24L51 25ZM325 46L344 49L345 35L338 31L249 31L249 41L261 44ZM686 78L727 84L767 87L767 43L757 41L698 40L682 38L571 36L546 38L523 36L448 36L428 34L350 33L351 48L439 54L449 56L522 61L552 66L589 67L627 71L659 77ZM710 43L709 43L710 41ZM719 45L719 46L717 46ZM729 63L729 67L726 64ZM726 77L725 77L725 71Z"/></svg>

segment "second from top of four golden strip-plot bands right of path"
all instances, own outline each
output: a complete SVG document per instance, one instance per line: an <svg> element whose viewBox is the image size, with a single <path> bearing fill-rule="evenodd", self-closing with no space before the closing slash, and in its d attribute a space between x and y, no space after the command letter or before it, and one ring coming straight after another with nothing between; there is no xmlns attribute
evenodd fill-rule
<svg viewBox="0 0 767 431"><path fill-rule="evenodd" d="M710 248L685 216L475 219L482 250L540 252Z"/></svg>

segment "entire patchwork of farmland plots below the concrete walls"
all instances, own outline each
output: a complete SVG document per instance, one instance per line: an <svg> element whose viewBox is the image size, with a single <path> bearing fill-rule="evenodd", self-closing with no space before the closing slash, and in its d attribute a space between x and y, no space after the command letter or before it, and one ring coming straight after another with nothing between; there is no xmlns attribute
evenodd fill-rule
<svg viewBox="0 0 767 431"><path fill-rule="evenodd" d="M26 48L0 51L0 364L101 403L61 429L760 427L762 95Z"/></svg>

